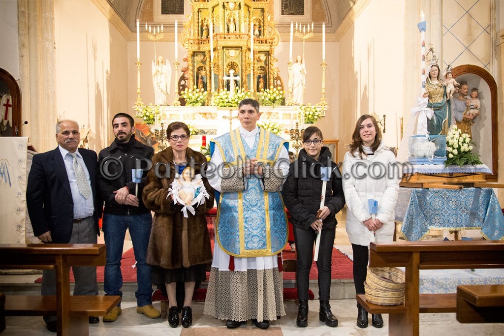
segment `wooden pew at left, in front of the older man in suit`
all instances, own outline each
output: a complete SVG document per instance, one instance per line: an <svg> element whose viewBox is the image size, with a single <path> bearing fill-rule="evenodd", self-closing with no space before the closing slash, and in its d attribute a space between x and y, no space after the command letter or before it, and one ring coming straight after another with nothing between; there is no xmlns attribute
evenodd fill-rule
<svg viewBox="0 0 504 336"><path fill-rule="evenodd" d="M0 244L0 268L56 271L56 296L7 295L7 316L56 315L57 335L89 335L89 316L104 316L119 296L70 295L71 266L105 265L104 244Z"/></svg>

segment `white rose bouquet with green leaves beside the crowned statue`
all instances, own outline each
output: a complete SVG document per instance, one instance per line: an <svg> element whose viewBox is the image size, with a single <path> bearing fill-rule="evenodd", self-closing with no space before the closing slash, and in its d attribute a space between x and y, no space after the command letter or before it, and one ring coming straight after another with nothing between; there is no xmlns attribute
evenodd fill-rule
<svg viewBox="0 0 504 336"><path fill-rule="evenodd" d="M452 125L448 129L448 134L446 136L446 152L447 160L445 162L446 166L449 165L477 165L481 164L480 156L472 152L474 142L467 133L462 133L462 131L457 127L457 125Z"/></svg>

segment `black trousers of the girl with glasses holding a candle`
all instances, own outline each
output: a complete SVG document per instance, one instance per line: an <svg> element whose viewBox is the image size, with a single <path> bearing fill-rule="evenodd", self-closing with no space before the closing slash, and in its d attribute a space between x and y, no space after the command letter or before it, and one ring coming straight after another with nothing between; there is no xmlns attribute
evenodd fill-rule
<svg viewBox="0 0 504 336"><path fill-rule="evenodd" d="M333 254L336 228L322 230L319 248L319 300L329 300L331 291L331 260ZM314 242L317 236L315 230L294 226L294 241L296 243L296 283L299 300L308 299L309 275L313 260Z"/></svg>

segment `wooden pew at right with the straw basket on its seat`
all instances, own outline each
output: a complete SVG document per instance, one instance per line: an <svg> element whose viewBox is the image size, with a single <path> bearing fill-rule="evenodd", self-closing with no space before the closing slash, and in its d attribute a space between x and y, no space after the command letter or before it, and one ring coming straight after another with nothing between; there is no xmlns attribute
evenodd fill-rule
<svg viewBox="0 0 504 336"><path fill-rule="evenodd" d="M504 267L504 241L371 242L370 267L406 267L405 304L380 306L357 295L371 314L389 315L389 335L419 334L419 313L456 312L456 294L419 294L420 270Z"/></svg>

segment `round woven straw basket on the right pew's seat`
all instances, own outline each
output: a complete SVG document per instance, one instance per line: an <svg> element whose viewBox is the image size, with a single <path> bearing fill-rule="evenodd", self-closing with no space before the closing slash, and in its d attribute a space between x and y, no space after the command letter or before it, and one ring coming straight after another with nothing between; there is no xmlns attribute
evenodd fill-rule
<svg viewBox="0 0 504 336"><path fill-rule="evenodd" d="M366 300L394 306L404 302L404 272L396 267L367 267Z"/></svg>

